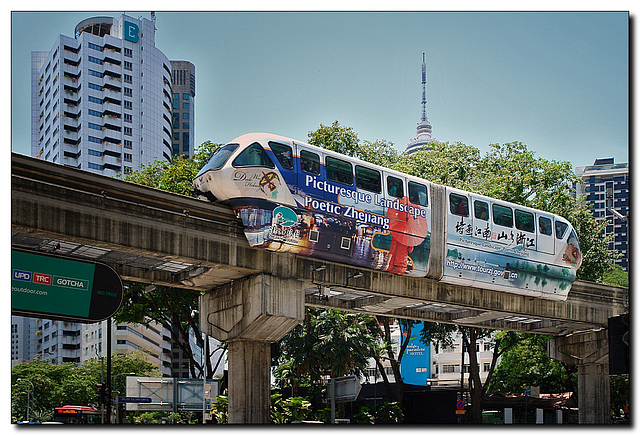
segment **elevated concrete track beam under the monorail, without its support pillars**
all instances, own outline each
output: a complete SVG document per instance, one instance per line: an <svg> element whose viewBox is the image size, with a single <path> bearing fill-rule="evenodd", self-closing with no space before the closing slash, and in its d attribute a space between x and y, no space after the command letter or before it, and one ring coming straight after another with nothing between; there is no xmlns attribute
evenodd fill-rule
<svg viewBox="0 0 640 435"><path fill-rule="evenodd" d="M228 207L12 154L12 246L93 259L123 279L208 291L266 274L304 303L415 320L565 335L628 312L623 289L576 282L554 302L251 248Z"/></svg>

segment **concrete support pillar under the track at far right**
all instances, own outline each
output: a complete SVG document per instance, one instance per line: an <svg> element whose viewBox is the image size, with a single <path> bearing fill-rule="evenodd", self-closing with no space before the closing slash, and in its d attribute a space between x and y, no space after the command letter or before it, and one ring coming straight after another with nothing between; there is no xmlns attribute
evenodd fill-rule
<svg viewBox="0 0 640 435"><path fill-rule="evenodd" d="M609 345L606 329L549 340L549 357L578 366L578 422L609 424Z"/></svg>

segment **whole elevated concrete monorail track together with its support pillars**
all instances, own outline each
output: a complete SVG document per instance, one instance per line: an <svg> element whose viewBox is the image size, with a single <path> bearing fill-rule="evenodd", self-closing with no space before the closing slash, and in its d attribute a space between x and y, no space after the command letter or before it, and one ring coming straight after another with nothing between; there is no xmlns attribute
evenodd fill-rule
<svg viewBox="0 0 640 435"><path fill-rule="evenodd" d="M229 344L229 422L268 423L270 343L304 306L553 335L578 365L580 422L609 419L608 319L625 289L576 282L566 301L443 284L254 249L228 207L11 156L11 245L91 259L125 280L204 292L202 331Z"/></svg>

